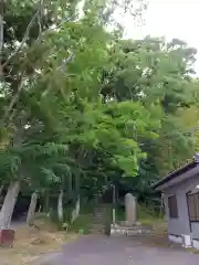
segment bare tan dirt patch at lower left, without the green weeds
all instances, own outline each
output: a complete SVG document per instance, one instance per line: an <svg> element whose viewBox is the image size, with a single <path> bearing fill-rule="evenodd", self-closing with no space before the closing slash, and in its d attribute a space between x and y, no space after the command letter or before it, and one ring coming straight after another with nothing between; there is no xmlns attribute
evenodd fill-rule
<svg viewBox="0 0 199 265"><path fill-rule="evenodd" d="M60 251L63 244L76 237L65 231L59 232L46 221L40 221L36 227L20 226L15 231L13 247L0 248L0 265L30 264L42 254Z"/></svg>

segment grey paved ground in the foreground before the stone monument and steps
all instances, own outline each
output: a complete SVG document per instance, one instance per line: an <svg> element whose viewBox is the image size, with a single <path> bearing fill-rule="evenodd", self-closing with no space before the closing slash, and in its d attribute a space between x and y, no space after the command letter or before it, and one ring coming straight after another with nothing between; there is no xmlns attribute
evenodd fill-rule
<svg viewBox="0 0 199 265"><path fill-rule="evenodd" d="M61 253L43 256L39 265L196 265L199 255L181 250L149 247L127 237L85 236Z"/></svg>

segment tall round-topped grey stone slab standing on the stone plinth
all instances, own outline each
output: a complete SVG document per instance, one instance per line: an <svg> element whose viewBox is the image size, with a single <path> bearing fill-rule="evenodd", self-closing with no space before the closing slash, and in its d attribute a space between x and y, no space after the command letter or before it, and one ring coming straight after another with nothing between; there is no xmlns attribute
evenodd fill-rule
<svg viewBox="0 0 199 265"><path fill-rule="evenodd" d="M126 224L134 225L136 223L136 198L130 193L125 195L125 214Z"/></svg>

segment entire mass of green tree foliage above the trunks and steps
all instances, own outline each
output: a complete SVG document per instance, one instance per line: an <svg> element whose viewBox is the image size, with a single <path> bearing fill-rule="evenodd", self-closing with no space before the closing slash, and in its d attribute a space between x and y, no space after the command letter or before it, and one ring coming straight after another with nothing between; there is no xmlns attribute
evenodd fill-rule
<svg viewBox="0 0 199 265"><path fill-rule="evenodd" d="M74 202L81 188L94 194L116 181L144 201L158 176L190 156L181 114L198 108L196 50L180 40L122 40L121 26L107 31L118 3L132 11L112 0L4 3L3 182L62 188Z"/></svg>

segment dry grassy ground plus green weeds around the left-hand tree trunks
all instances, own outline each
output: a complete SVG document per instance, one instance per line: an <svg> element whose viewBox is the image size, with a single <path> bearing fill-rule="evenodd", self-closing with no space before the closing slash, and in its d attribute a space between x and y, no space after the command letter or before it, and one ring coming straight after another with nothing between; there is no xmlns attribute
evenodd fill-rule
<svg viewBox="0 0 199 265"><path fill-rule="evenodd" d="M92 214L88 212L86 209L80 214L75 222L69 225L67 231L61 230L62 225L54 212L51 212L49 218L45 213L36 214L34 227L24 225L15 231L13 248L0 247L2 264L29 264L42 254L60 251L66 242L76 240L80 234L88 234L92 224ZM64 214L66 219L70 213Z"/></svg>

